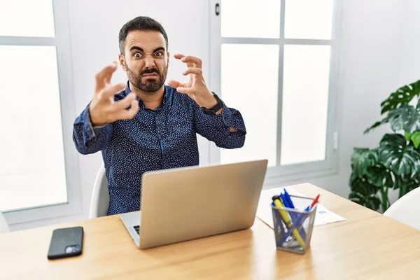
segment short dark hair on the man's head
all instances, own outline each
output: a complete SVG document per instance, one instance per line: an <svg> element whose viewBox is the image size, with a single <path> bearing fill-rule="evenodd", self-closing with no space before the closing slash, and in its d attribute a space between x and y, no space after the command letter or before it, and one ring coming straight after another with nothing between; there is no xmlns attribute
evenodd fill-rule
<svg viewBox="0 0 420 280"><path fill-rule="evenodd" d="M166 47L168 50L168 36L166 34L165 29L160 25L159 22L153 20L153 18L148 17L137 17L130 22L127 22L123 27L120 29L119 43L120 43L120 52L124 54L124 46L125 46L125 38L127 38L127 34L130 31L141 30L141 31L158 31L160 32L166 41Z"/></svg>

